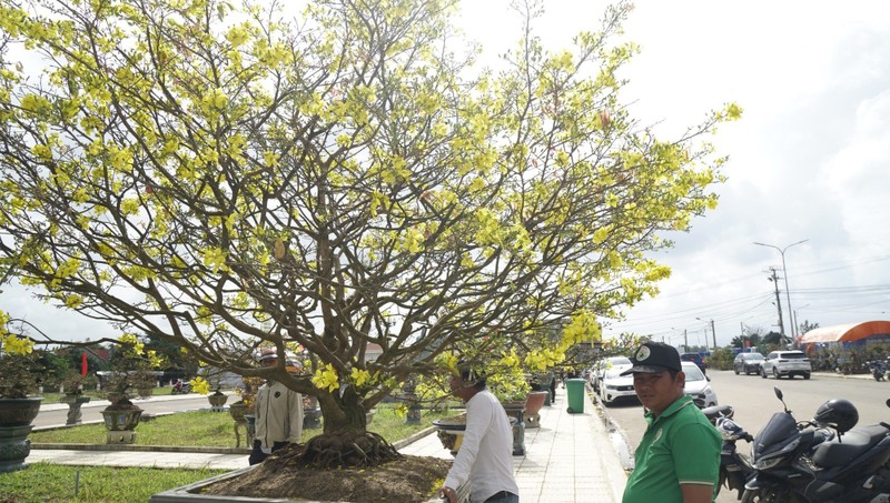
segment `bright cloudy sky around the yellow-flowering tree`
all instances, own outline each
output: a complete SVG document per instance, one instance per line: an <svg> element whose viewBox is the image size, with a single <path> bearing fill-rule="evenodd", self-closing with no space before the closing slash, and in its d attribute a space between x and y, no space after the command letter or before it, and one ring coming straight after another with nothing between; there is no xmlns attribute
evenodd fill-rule
<svg viewBox="0 0 890 503"><path fill-rule="evenodd" d="M508 0L465 0L458 20L495 61L520 33ZM595 29L607 3L547 0L536 32L552 48ZM622 40L641 47L624 69L622 101L670 135L738 102L743 118L713 139L729 155L720 205L670 235L655 255L672 268L661 294L610 323L680 345L720 346L779 331L775 268L785 332L784 280L799 322L820 326L890 320L890 2L643 0ZM782 271L779 250L785 249ZM117 336L9 288L6 309L59 339Z"/></svg>

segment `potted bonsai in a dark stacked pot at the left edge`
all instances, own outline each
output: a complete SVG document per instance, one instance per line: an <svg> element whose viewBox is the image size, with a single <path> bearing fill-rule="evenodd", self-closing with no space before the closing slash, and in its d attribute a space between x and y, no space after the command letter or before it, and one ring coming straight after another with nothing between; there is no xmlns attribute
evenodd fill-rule
<svg viewBox="0 0 890 503"><path fill-rule="evenodd" d="M39 383L40 365L32 354L33 341L7 332L0 312L0 473L26 467L31 453L31 422L40 411L39 396L29 396Z"/></svg>

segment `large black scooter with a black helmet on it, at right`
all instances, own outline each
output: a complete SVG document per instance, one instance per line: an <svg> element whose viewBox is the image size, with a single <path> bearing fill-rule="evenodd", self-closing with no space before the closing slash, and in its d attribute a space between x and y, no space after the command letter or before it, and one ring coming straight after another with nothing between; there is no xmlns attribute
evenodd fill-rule
<svg viewBox="0 0 890 503"><path fill-rule="evenodd" d="M799 422L773 390L784 412L754 437L743 503L890 502L890 424L853 427L859 412L843 399Z"/></svg>

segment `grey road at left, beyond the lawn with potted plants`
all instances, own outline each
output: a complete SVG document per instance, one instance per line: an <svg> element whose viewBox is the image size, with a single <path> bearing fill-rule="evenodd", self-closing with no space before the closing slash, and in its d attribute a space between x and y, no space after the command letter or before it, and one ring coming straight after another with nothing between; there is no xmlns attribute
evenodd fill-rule
<svg viewBox="0 0 890 503"><path fill-rule="evenodd" d="M230 403L234 399L229 396ZM195 411L198 409L207 409L210 406L207 396L191 393L186 395L158 395L148 400L134 400L134 403L139 405L145 412L144 414L161 414L169 412ZM82 422L101 422L101 411L108 405L105 400L92 400L80 408L82 413ZM43 403L40 406L40 413L33 421L37 429L47 426L58 426L65 424L68 419L68 406L59 403Z"/></svg>

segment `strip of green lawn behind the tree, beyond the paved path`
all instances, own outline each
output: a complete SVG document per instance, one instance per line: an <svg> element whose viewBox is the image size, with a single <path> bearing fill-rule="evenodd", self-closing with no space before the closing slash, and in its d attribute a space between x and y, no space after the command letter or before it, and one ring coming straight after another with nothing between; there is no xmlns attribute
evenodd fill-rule
<svg viewBox="0 0 890 503"><path fill-rule="evenodd" d="M375 411L368 430L380 434L388 442L405 439L432 425L435 419L455 415L454 411L425 412L419 424L405 424L405 419L396 415L395 404L380 404ZM136 442L140 445L234 447L234 425L228 412L192 411L159 415L139 424L136 429ZM305 429L301 442L320 433L322 429ZM106 430L103 424L83 424L32 432L28 437L34 443L103 444Z"/></svg>

